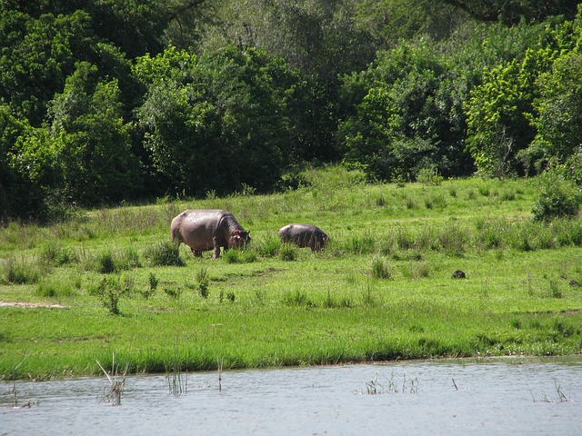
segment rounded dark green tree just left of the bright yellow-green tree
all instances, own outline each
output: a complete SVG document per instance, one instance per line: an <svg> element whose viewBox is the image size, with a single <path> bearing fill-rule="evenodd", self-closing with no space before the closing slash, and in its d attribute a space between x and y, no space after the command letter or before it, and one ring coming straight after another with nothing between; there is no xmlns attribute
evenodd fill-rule
<svg viewBox="0 0 582 436"><path fill-rule="evenodd" d="M367 91L356 114L340 124L345 163L387 181L414 179L425 168L447 176L470 172L456 86L433 45L403 43L379 54L359 79L346 77L353 89L345 94Z"/></svg>

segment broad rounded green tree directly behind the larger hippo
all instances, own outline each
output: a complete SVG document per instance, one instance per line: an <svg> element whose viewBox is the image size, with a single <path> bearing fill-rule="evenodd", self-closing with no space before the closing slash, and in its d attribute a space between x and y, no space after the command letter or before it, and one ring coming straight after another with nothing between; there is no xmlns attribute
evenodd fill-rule
<svg viewBox="0 0 582 436"><path fill-rule="evenodd" d="M289 103L301 84L280 58L252 47L199 58L168 49L135 71L150 83L139 113L146 148L177 193L275 185L293 152Z"/></svg>

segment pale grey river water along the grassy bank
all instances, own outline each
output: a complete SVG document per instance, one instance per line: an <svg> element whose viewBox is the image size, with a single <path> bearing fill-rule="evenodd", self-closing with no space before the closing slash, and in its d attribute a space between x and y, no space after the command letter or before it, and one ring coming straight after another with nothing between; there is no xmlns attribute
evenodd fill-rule
<svg viewBox="0 0 582 436"><path fill-rule="evenodd" d="M581 358L195 372L182 393L173 381L127 377L120 405L105 376L2 382L0 435L582 434Z"/></svg>

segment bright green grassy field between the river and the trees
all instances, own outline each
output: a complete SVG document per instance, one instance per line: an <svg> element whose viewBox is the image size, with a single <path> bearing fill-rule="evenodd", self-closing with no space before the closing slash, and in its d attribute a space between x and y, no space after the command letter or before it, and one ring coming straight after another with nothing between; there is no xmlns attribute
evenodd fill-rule
<svg viewBox="0 0 582 436"><path fill-rule="evenodd" d="M582 352L582 221L532 221L536 180L366 184L333 166L304 184L9 223L0 377ZM176 258L188 208L229 210L253 242ZM326 250L282 245L287 223L321 227Z"/></svg>

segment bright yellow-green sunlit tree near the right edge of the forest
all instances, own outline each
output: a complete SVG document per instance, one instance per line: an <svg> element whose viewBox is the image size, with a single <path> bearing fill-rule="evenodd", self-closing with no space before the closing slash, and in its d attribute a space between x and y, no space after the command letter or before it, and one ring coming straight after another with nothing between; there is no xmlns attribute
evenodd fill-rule
<svg viewBox="0 0 582 436"><path fill-rule="evenodd" d="M552 130L552 107L557 112L563 110L557 106L562 106L567 94L560 93L566 88L558 90L555 84L567 78L562 76L554 82L550 72L559 54L568 53L573 46L572 22L549 21L536 28L538 37L530 40L532 48L525 48L519 58L486 68L482 83L471 90L467 100L467 149L484 175L530 173L533 163L556 155L556 147L561 146L557 137L550 140L551 134L537 134L537 129L544 125L548 133ZM566 84L568 91L577 80L577 74L571 77ZM576 100L576 90L571 93ZM563 123L560 129L568 129L569 125ZM530 145L536 137L537 141ZM573 146L569 145L569 149Z"/></svg>

